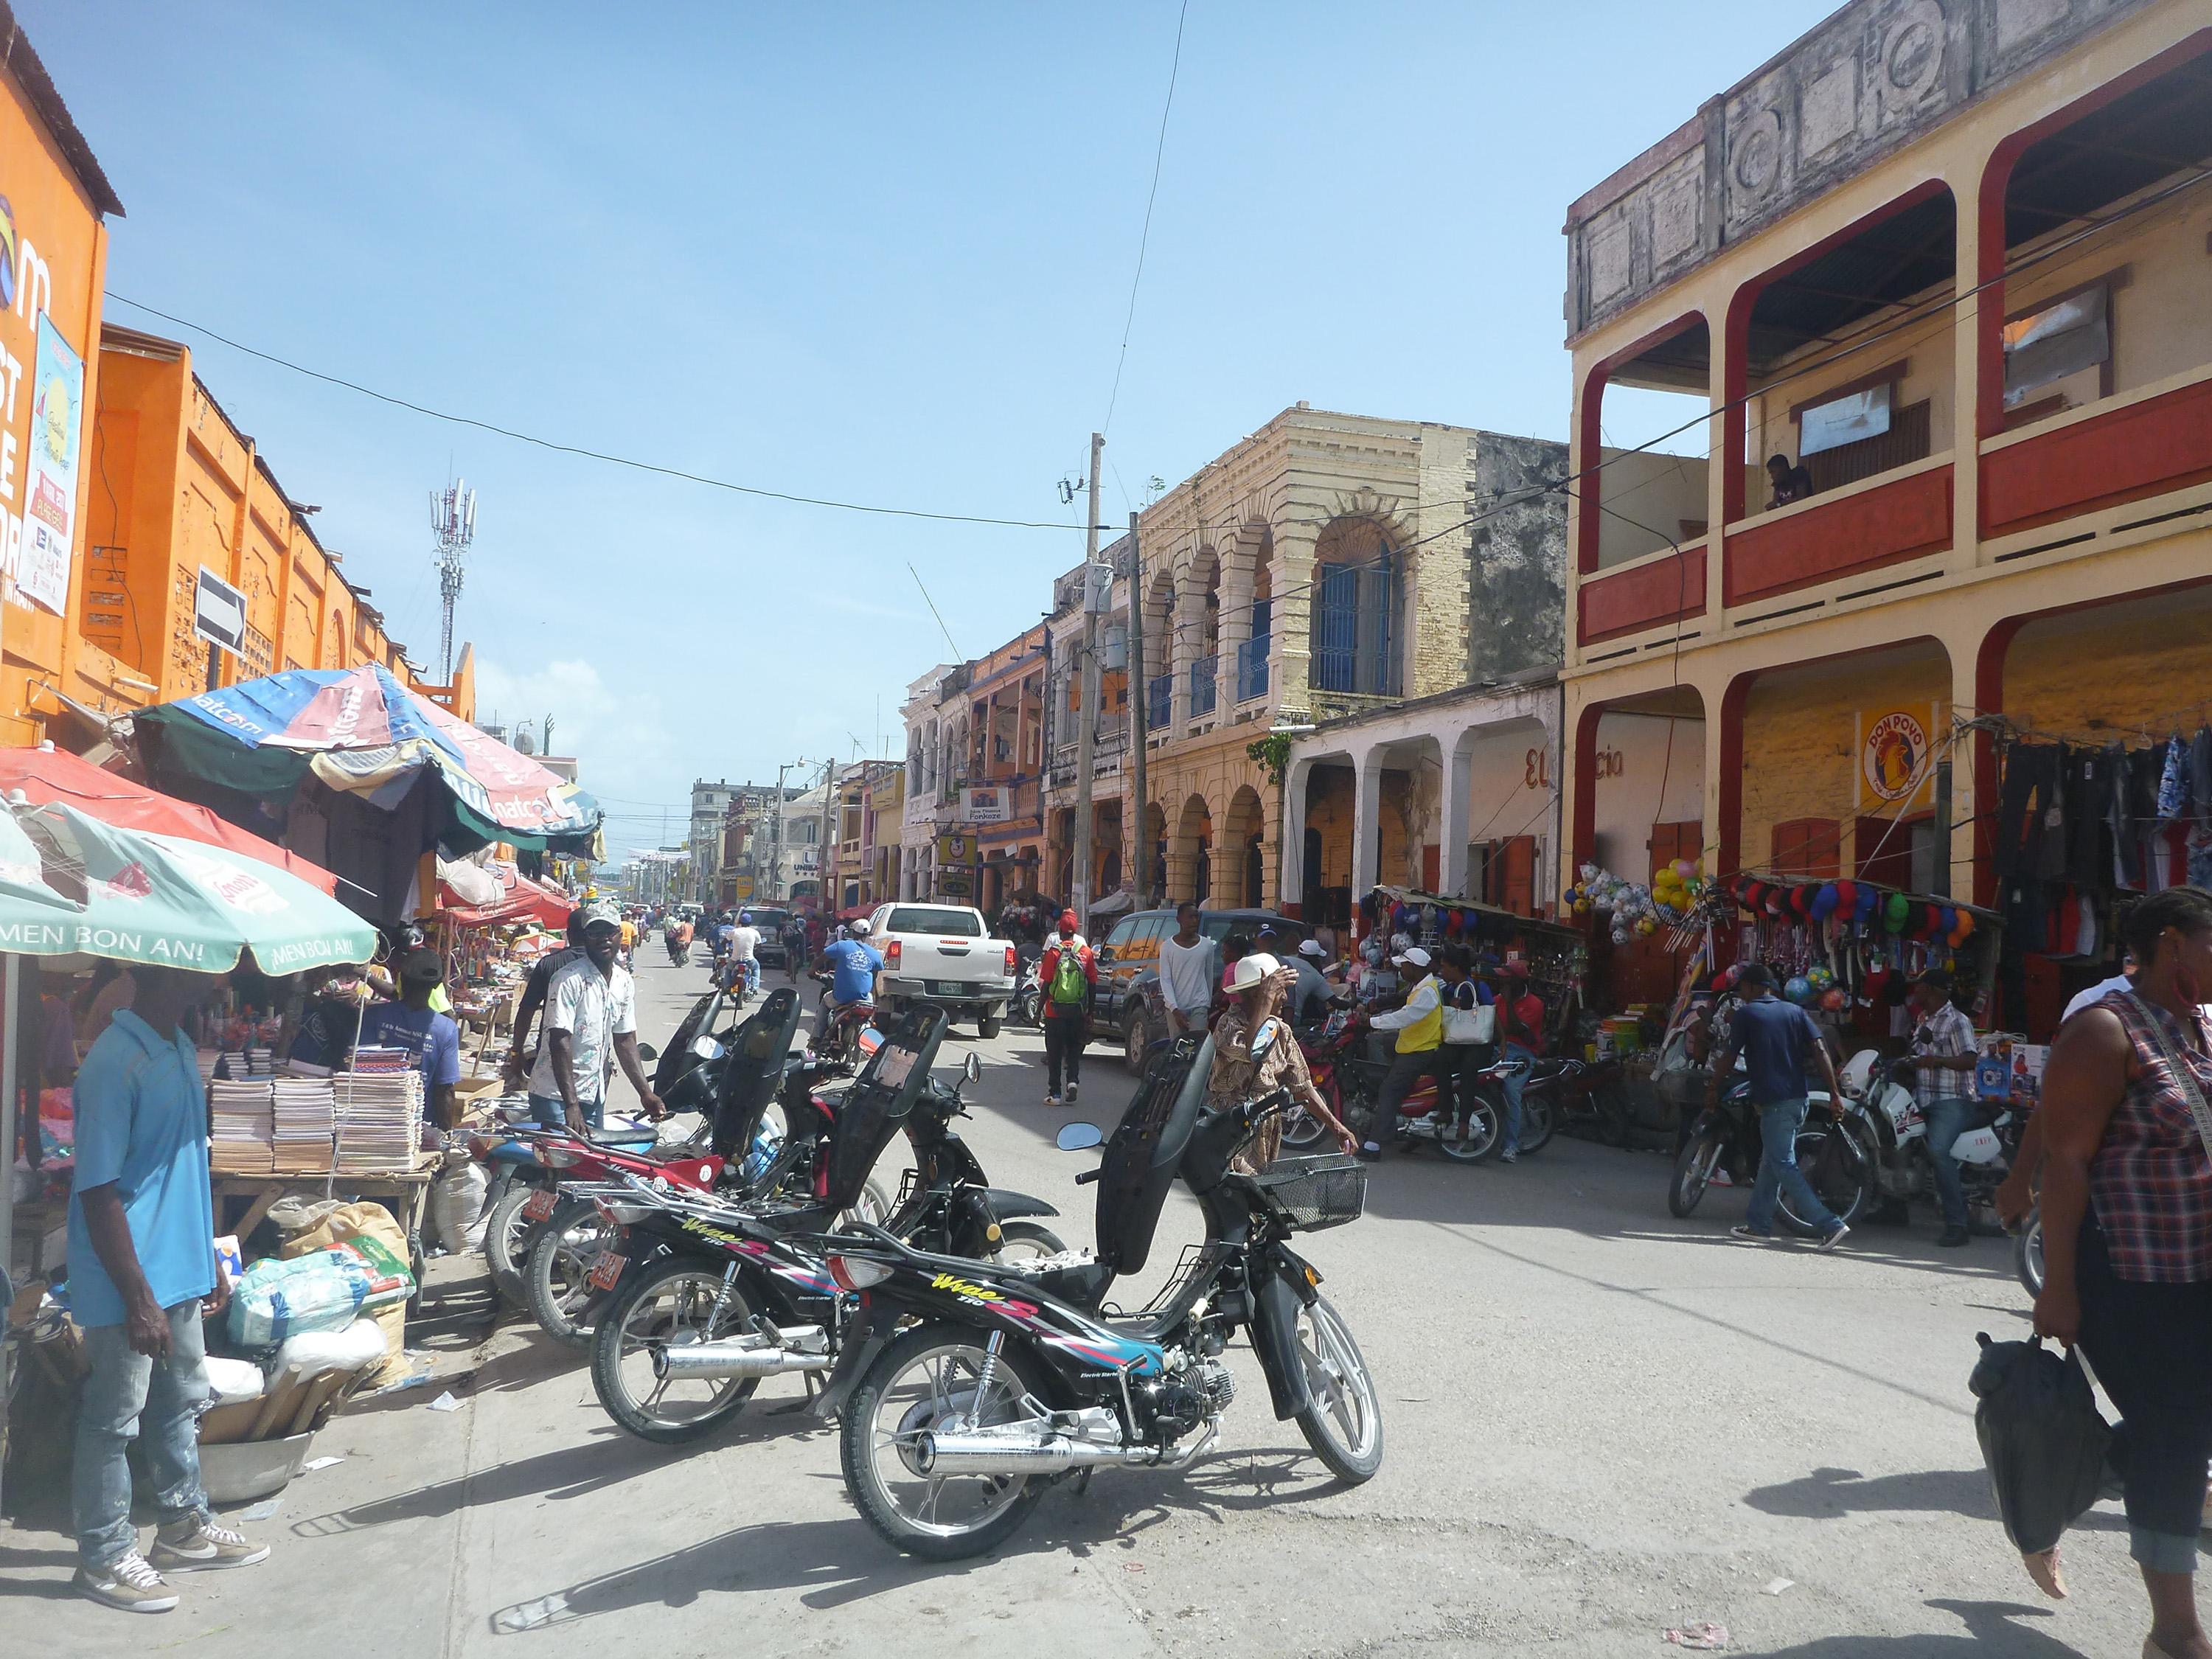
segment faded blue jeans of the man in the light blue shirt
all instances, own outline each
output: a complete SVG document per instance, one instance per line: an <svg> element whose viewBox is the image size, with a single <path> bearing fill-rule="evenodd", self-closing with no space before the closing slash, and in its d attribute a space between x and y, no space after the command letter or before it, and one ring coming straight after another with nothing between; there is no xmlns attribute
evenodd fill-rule
<svg viewBox="0 0 2212 1659"><path fill-rule="evenodd" d="M93 1371L77 1405L71 1484L77 1562L93 1573L137 1548L131 1464L124 1458L133 1440L144 1444L164 1524L210 1513L199 1484L199 1413L215 1396L199 1340L199 1298L168 1310L168 1354L161 1358L133 1354L126 1332L126 1325L91 1325L84 1332Z"/></svg>

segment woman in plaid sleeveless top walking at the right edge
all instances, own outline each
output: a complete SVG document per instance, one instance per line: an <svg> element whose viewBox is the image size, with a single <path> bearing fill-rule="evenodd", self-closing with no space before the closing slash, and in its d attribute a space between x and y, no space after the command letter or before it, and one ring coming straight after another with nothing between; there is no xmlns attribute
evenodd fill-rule
<svg viewBox="0 0 2212 1659"><path fill-rule="evenodd" d="M2128 1553L2143 1659L2212 1659L2197 1528L2212 1458L2212 894L2168 887L2124 925L2141 971L2051 1044L2044 1294L2035 1329L2081 1343L2128 1422ZM2057 1548L2026 1559L2053 1595Z"/></svg>

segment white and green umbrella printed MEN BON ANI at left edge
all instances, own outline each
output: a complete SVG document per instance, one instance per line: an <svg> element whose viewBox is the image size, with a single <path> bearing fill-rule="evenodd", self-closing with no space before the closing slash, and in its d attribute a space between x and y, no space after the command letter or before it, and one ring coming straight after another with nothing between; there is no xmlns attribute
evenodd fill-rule
<svg viewBox="0 0 2212 1659"><path fill-rule="evenodd" d="M49 801L0 818L0 951L195 973L252 951L263 973L299 973L367 962L376 929L276 865Z"/></svg>

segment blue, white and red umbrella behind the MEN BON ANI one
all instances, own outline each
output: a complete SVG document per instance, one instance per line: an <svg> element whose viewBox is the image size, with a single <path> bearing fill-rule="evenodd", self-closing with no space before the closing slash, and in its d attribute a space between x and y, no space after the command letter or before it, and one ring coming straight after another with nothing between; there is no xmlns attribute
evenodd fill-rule
<svg viewBox="0 0 2212 1659"><path fill-rule="evenodd" d="M507 841L599 856L599 807L529 754L403 686L385 668L290 668L137 714L161 754L230 790L288 796L310 772L394 807L425 770L449 794L447 845Z"/></svg>

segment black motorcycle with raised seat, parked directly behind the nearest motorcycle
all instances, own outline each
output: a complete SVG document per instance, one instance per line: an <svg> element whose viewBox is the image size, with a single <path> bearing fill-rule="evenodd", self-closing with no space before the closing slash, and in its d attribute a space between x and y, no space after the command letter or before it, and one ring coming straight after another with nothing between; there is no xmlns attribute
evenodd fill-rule
<svg viewBox="0 0 2212 1659"><path fill-rule="evenodd" d="M803 1203L726 1203L639 1181L597 1197L608 1241L591 1274L604 1292L586 1310L591 1380L615 1422L664 1444L695 1440L741 1411L763 1376L830 1369L838 1285L818 1254L821 1234L863 1223L856 1206L900 1128L914 1175L889 1214L867 1217L883 1221L885 1237L1000 1261L1064 1254L1057 1234L1026 1219L1060 1212L989 1186L953 1133L967 1115L960 1084L929 1075L947 1024L940 1009L916 1009L885 1037L834 1106ZM969 1055L964 1082L980 1073Z"/></svg>

